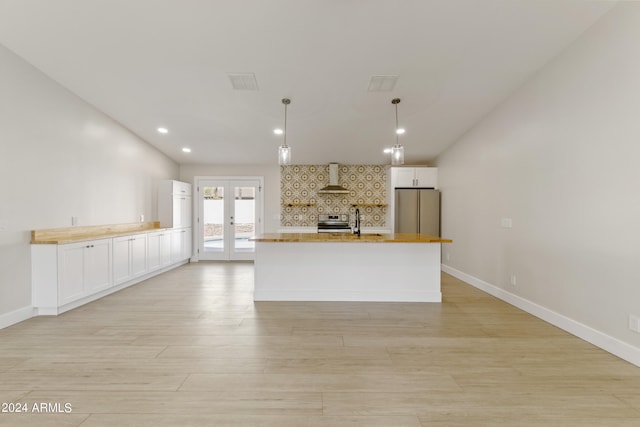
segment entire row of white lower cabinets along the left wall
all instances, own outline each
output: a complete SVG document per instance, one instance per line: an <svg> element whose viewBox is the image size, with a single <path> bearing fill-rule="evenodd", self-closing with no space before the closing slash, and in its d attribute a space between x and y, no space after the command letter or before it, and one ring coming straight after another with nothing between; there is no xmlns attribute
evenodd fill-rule
<svg viewBox="0 0 640 427"><path fill-rule="evenodd" d="M32 244L32 304L59 314L184 263L191 229L68 244Z"/></svg>

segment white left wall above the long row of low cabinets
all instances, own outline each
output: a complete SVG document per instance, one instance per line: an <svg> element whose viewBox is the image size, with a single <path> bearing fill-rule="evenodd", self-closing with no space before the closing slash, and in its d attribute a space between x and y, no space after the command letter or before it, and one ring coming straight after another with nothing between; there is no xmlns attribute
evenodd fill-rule
<svg viewBox="0 0 640 427"><path fill-rule="evenodd" d="M31 305L30 230L157 219L178 165L0 46L0 319Z"/></svg>

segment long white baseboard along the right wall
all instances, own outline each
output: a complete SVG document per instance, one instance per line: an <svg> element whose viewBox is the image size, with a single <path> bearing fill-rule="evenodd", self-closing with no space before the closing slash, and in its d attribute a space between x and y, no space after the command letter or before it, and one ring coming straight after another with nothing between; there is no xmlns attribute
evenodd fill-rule
<svg viewBox="0 0 640 427"><path fill-rule="evenodd" d="M546 322L549 322L552 325L557 326L558 328L577 336L578 338L581 338L597 347L600 347L601 349L608 351L609 353L614 354L629 363L640 366L640 348L638 347L632 346L631 344L628 344L624 341L620 341L619 339L593 329L590 326L577 322L560 313L556 313L555 311L549 310L546 307L531 302L518 295L512 294L511 292L507 292L502 288L487 283L460 270L456 270L453 267L442 264L442 271L490 295L493 295L496 298L500 298L501 300L513 306L516 306L529 314L532 314Z"/></svg>

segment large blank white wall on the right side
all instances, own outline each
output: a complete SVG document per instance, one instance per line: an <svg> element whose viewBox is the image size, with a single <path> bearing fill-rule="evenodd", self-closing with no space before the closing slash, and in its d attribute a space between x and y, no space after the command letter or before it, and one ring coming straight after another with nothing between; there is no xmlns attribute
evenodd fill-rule
<svg viewBox="0 0 640 427"><path fill-rule="evenodd" d="M617 5L437 161L444 264L638 351L639 40Z"/></svg>

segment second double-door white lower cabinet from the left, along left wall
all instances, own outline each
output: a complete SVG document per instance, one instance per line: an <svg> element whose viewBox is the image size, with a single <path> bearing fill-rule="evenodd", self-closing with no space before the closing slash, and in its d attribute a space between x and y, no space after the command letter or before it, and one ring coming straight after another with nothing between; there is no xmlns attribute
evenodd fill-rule
<svg viewBox="0 0 640 427"><path fill-rule="evenodd" d="M127 282L147 272L147 235L115 237L113 239L113 282Z"/></svg>

